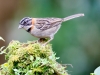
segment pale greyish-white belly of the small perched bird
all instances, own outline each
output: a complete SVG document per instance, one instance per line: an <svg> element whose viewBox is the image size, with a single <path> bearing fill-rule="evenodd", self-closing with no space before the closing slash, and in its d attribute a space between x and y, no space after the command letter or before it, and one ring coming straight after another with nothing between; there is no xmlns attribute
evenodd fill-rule
<svg viewBox="0 0 100 75"><path fill-rule="evenodd" d="M61 25L47 29L47 30L40 30L35 28L31 31L31 34L38 38L49 38L51 35L54 36L54 34L59 30Z"/></svg>

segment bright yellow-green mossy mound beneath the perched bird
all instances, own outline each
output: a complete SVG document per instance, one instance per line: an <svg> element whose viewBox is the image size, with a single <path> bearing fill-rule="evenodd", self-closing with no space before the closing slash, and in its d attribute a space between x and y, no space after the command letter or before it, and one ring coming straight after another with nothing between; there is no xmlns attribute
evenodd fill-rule
<svg viewBox="0 0 100 75"><path fill-rule="evenodd" d="M0 66L0 75L68 75L50 44L11 41L3 51L7 62Z"/></svg>

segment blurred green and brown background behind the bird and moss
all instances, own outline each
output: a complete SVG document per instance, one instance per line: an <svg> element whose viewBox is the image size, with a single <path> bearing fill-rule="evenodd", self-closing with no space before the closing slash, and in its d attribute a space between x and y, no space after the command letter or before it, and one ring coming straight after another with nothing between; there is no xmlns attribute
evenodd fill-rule
<svg viewBox="0 0 100 75"><path fill-rule="evenodd" d="M7 46L11 40L36 40L25 30L18 30L23 17L66 17L84 13L84 17L62 24L51 42L59 63L71 75L89 75L100 66L100 0L0 0L0 36ZM4 63L0 55L0 64Z"/></svg>

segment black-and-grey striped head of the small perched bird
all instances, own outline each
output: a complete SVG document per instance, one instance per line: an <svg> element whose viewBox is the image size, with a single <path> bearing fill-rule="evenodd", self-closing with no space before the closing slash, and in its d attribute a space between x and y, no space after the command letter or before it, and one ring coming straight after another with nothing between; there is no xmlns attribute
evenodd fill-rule
<svg viewBox="0 0 100 75"><path fill-rule="evenodd" d="M20 21L18 29L24 28L25 30L28 30L31 26L32 26L32 18L25 17Z"/></svg>

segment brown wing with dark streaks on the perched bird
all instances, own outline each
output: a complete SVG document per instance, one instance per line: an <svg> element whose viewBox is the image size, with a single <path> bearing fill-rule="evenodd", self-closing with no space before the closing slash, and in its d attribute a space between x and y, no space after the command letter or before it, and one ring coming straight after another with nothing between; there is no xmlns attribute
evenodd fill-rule
<svg viewBox="0 0 100 75"><path fill-rule="evenodd" d="M47 30L62 23L61 18L38 18L36 21L36 28L40 30Z"/></svg>

